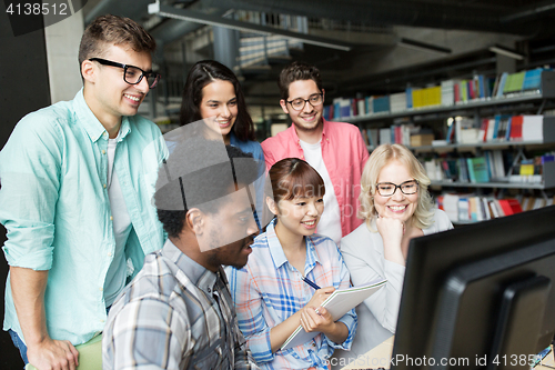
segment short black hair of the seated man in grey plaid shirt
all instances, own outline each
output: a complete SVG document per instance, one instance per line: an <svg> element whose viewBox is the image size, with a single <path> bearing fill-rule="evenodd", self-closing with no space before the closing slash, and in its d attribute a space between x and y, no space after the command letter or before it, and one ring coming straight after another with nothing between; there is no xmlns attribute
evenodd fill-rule
<svg viewBox="0 0 555 370"><path fill-rule="evenodd" d="M212 200L221 199L256 179L258 164L251 153L232 146L225 146L225 149L230 161L222 162L218 158L222 152L221 142L190 139L179 143L160 168L154 202L158 218L171 238L179 237L190 208L216 213L222 203ZM233 160L239 158L246 160ZM233 177L226 176L230 166Z"/></svg>

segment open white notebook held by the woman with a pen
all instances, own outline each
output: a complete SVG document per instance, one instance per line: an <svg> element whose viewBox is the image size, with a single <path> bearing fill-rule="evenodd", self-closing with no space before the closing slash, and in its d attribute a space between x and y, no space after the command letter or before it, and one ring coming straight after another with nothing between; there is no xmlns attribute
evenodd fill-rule
<svg viewBox="0 0 555 370"><path fill-rule="evenodd" d="M330 311L333 321L337 321L351 309L375 293L386 282L387 280L376 280L364 286L337 289L322 303L322 307ZM299 326L299 328L289 336L287 340L281 347L281 350L304 344L319 333L319 331L306 332L302 326Z"/></svg>

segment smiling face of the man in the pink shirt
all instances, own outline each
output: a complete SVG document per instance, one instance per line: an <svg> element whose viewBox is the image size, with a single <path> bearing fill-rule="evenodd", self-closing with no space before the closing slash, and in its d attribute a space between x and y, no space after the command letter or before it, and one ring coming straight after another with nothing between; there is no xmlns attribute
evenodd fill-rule
<svg viewBox="0 0 555 370"><path fill-rule="evenodd" d="M294 99L309 99L315 93L324 92L316 86L313 80L297 80L291 82L289 86L289 98L287 101ZM317 130L322 124L322 112L324 111L324 104L321 103L313 107L310 102L304 104L304 108L300 111L294 110L289 102L284 99L280 101L280 104L285 113L291 117L291 121L295 126L296 130L301 131L314 131Z"/></svg>

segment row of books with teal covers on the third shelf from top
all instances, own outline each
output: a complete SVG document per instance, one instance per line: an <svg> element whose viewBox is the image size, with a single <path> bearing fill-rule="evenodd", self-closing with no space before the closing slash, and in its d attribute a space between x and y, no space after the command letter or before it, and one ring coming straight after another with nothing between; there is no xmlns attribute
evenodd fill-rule
<svg viewBox="0 0 555 370"><path fill-rule="evenodd" d="M554 153L519 159L502 150L485 150L484 156L472 158L433 158L424 161L424 169L432 181L450 182L519 182L541 183L544 167L555 162Z"/></svg>

